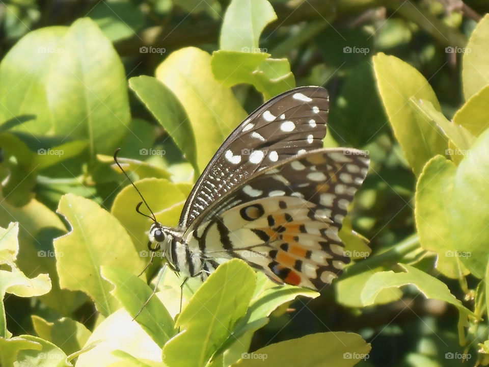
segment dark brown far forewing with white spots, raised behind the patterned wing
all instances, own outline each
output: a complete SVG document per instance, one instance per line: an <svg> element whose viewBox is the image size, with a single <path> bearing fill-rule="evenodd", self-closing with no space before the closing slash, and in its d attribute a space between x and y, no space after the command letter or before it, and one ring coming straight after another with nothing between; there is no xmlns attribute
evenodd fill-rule
<svg viewBox="0 0 489 367"><path fill-rule="evenodd" d="M254 111L214 154L189 195L180 217L187 228L216 199L256 171L297 152L322 147L329 95L321 87L282 93Z"/></svg>

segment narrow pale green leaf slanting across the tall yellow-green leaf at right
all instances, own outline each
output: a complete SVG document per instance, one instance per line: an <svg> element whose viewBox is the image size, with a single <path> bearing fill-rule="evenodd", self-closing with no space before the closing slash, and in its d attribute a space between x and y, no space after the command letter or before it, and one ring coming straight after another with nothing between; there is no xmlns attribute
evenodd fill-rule
<svg viewBox="0 0 489 367"><path fill-rule="evenodd" d="M466 151L475 141L475 137L463 125L457 124L454 121L448 121L445 115L437 111L430 101L423 99L416 100L411 97L409 102L413 108L418 109L429 121L437 124L445 136L455 144L458 150ZM455 153L451 149L447 149L447 154L453 155Z"/></svg>

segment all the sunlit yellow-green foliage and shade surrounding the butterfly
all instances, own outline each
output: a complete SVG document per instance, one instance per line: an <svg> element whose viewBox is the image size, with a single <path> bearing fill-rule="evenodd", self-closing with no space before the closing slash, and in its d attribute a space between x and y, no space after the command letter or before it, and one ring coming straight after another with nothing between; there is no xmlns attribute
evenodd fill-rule
<svg viewBox="0 0 489 367"><path fill-rule="evenodd" d="M0 365L489 364L485 2L3 10ZM301 85L330 91L325 146L371 158L340 233L343 276L319 294L233 259L181 288L167 268L141 309L164 260L139 275L151 221L115 149L176 225L233 128Z"/></svg>

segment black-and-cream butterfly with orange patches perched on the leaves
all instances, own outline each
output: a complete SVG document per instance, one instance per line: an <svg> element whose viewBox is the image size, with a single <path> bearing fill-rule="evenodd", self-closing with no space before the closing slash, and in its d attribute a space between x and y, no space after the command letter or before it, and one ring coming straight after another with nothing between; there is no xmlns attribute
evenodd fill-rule
<svg viewBox="0 0 489 367"><path fill-rule="evenodd" d="M350 261L338 231L369 159L357 149L323 148L328 111L321 87L264 103L214 154L178 226L153 215L149 248L186 278L205 279L240 258L278 283L330 284Z"/></svg>

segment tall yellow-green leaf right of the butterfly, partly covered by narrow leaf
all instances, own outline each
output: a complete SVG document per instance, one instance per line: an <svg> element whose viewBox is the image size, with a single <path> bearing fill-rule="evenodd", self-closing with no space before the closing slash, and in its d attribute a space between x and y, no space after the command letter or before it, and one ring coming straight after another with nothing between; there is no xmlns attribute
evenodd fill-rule
<svg viewBox="0 0 489 367"><path fill-rule="evenodd" d="M445 154L447 142L443 133L411 106L409 99L430 101L437 111L441 111L440 103L424 76L404 61L379 53L373 57L373 67L394 134L418 176L433 156Z"/></svg>

